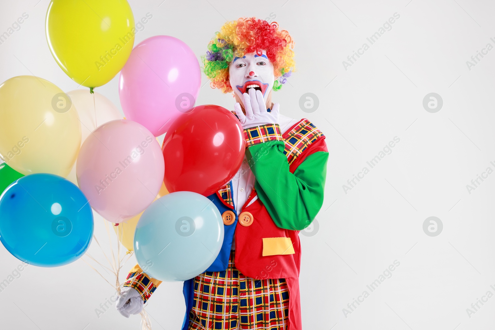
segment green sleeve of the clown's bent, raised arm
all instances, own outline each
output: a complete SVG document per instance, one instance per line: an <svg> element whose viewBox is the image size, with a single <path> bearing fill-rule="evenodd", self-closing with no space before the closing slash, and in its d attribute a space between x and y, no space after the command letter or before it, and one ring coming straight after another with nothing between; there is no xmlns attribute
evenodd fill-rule
<svg viewBox="0 0 495 330"><path fill-rule="evenodd" d="M307 156L294 174L289 171L283 141L251 145L246 155L258 198L275 225L298 231L310 225L323 205L328 152Z"/></svg>

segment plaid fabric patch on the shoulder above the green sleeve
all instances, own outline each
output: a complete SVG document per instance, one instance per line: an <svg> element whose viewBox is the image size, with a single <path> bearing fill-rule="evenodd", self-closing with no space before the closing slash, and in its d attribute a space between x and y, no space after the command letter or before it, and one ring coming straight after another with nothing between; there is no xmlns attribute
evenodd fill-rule
<svg viewBox="0 0 495 330"><path fill-rule="evenodd" d="M323 136L323 133L309 120L304 119L286 134L284 154L289 165L304 151L311 142Z"/></svg>

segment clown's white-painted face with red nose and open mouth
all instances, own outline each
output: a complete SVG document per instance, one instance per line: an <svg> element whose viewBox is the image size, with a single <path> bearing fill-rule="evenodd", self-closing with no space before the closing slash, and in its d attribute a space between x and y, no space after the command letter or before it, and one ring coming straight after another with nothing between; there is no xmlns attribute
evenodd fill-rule
<svg viewBox="0 0 495 330"><path fill-rule="evenodd" d="M273 64L266 57L266 51L263 50L261 56L252 52L244 57L235 57L229 65L229 81L241 99L248 88L254 88L261 91L266 101L275 82Z"/></svg>

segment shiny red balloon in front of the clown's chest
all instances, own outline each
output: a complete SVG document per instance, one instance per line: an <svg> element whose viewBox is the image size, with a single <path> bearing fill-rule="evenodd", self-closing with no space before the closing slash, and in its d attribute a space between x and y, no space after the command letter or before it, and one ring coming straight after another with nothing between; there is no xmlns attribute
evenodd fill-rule
<svg viewBox="0 0 495 330"><path fill-rule="evenodd" d="M167 130L162 145L165 187L209 196L239 171L245 150L243 127L231 111L198 105Z"/></svg>

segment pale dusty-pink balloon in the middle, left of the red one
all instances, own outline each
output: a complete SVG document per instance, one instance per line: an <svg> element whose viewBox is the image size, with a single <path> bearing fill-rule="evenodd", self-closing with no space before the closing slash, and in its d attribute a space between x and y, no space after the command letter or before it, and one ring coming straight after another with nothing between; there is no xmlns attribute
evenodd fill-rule
<svg viewBox="0 0 495 330"><path fill-rule="evenodd" d="M104 219L121 223L143 212L161 188L161 147L146 127L112 120L84 141L76 164L79 188Z"/></svg>

